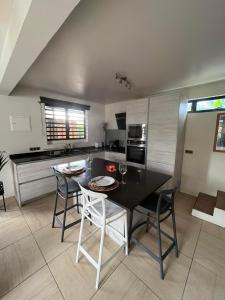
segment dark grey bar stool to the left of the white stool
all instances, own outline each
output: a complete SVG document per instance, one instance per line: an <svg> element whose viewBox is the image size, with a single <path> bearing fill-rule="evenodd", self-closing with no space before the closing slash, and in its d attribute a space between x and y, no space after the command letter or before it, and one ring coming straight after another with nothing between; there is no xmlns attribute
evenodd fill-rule
<svg viewBox="0 0 225 300"><path fill-rule="evenodd" d="M53 213L53 220L52 220L52 228L55 227L55 220L59 224L59 226L62 228L62 235L61 235L61 242L64 240L64 232L66 229L72 227L73 225L76 225L80 223L80 219L77 221L74 221L68 225L66 225L66 214L67 211L76 207L77 212L79 213L79 207L81 204L79 204L79 195L80 193L80 188L79 185L72 180L69 177L66 177L64 174L61 172L57 171L54 169L54 173L57 179L57 190L56 190L56 197L55 197L55 206L54 206L54 213ZM68 207L68 199L73 198L74 194L76 194L76 204L73 204ZM57 204L58 204L58 196L62 199L64 199L64 209L60 210L57 212ZM58 218L59 215L63 214L63 221L61 222L60 219Z"/></svg>

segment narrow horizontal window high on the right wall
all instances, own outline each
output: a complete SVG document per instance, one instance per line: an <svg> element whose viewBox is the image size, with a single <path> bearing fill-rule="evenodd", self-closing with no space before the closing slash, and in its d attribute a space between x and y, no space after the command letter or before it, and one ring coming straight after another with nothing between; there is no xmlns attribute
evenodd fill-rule
<svg viewBox="0 0 225 300"><path fill-rule="evenodd" d="M207 112L214 110L225 110L225 96L190 100L188 102L188 112Z"/></svg>

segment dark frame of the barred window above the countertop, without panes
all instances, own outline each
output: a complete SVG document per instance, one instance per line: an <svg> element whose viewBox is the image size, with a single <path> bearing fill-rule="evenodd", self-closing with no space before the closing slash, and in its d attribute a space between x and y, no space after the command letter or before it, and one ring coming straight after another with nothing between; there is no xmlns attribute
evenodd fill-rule
<svg viewBox="0 0 225 300"><path fill-rule="evenodd" d="M65 110L65 130L66 130L66 137L65 138L48 138L48 132L47 132L47 123L46 123L46 106L51 107L53 109L64 109ZM68 111L69 110L77 110L77 111L82 111L84 113L84 137L82 138L70 138L69 137L69 117L68 117ZM85 109L81 108L75 108L75 107L62 107L62 106L55 106L55 105L44 105L44 120L45 120L45 134L47 138L47 142L60 142L60 141L77 141L77 140L86 140L87 139L87 111Z"/></svg>

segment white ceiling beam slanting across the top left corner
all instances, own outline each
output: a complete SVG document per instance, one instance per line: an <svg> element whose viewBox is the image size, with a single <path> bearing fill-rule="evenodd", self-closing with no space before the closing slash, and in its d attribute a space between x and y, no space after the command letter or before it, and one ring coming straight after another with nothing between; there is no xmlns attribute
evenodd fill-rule
<svg viewBox="0 0 225 300"><path fill-rule="evenodd" d="M13 1L0 57L0 94L11 93L79 2Z"/></svg>

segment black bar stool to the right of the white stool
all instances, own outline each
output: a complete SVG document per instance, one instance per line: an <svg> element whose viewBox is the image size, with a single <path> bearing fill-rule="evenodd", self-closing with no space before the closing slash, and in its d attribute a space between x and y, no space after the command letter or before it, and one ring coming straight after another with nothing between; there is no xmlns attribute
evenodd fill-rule
<svg viewBox="0 0 225 300"><path fill-rule="evenodd" d="M174 197L176 193L177 187L161 191L159 194L153 193L151 194L143 203L140 205L145 209L146 213L140 211L139 209L135 209L139 213L145 215L147 218L145 221L137 224L132 228L132 232L134 232L140 226L146 224L146 232L149 230L149 225L152 225L157 231L157 240L158 240L158 255L153 253L150 249L148 249L143 243L138 241L137 239L131 237L132 242L134 242L137 246L139 246L142 250L147 252L152 258L154 258L160 264L160 277L164 279L164 271L163 271L163 260L167 257L167 255L171 252L173 248L175 248L176 257L178 257L178 244L177 244L177 234L176 234L176 220L175 220L175 211L174 211ZM173 236L170 236L168 233L161 229L160 224L165 221L167 218L172 216L172 226L173 226ZM150 222L150 217L155 219L154 222ZM166 249L166 251L162 252L162 239L161 235L164 235L168 238L172 243Z"/></svg>

